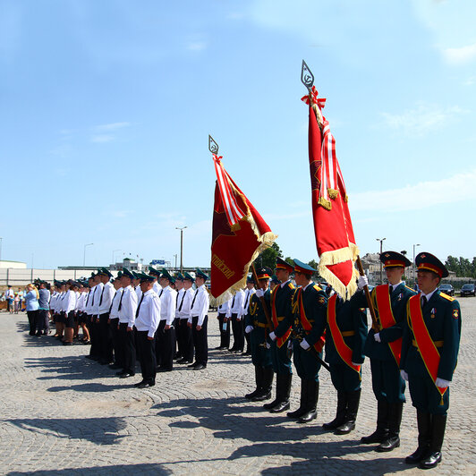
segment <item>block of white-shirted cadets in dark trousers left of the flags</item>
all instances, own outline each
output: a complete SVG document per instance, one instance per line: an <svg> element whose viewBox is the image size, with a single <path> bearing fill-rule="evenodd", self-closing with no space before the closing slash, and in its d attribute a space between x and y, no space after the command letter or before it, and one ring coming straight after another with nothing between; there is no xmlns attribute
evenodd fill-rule
<svg viewBox="0 0 476 476"><path fill-rule="evenodd" d="M195 275L124 268L111 279L101 268L84 281L55 281L50 301L55 337L72 345L82 327L82 342L90 344L87 357L108 364L119 378L133 377L139 360L142 379L135 386L140 388L153 387L157 372L173 370L174 360L205 369L208 276L200 269Z"/></svg>

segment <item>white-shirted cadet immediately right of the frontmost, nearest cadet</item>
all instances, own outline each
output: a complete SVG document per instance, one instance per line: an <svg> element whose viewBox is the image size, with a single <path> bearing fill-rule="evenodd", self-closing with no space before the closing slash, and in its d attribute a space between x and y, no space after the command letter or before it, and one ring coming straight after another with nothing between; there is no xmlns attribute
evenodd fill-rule
<svg viewBox="0 0 476 476"><path fill-rule="evenodd" d="M162 286L160 298L160 324L156 333L157 371L169 372L174 368L174 319L176 292L170 287L175 278L170 276L166 268L162 269L159 284Z"/></svg>

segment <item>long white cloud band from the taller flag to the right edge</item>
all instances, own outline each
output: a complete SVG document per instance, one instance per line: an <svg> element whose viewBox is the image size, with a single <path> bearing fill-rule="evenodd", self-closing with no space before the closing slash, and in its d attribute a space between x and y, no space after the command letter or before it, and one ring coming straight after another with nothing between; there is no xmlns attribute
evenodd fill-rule
<svg viewBox="0 0 476 476"><path fill-rule="evenodd" d="M386 191L364 191L349 196L351 212L395 212L430 208L476 199L476 169L433 182Z"/></svg>

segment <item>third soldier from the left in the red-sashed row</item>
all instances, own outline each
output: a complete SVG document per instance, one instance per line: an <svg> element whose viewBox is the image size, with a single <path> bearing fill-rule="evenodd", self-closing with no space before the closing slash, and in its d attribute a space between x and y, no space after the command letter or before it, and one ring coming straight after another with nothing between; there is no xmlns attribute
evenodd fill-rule
<svg viewBox="0 0 476 476"><path fill-rule="evenodd" d="M327 294L312 282L317 273L299 259L294 261L294 279L300 286L293 294L293 355L294 366L301 378L301 404L290 418L300 423L314 420L319 400L319 370L324 347ZM287 319L285 319L286 322ZM286 322L287 324L287 322Z"/></svg>

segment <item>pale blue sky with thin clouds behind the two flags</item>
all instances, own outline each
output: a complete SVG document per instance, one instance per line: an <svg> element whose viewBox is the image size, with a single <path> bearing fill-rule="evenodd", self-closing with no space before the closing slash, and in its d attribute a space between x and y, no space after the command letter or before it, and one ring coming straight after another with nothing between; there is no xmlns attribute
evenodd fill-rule
<svg viewBox="0 0 476 476"><path fill-rule="evenodd" d="M2 259L209 263L215 173L317 258L305 59L336 136L361 255L472 258L472 0L0 2Z"/></svg>

